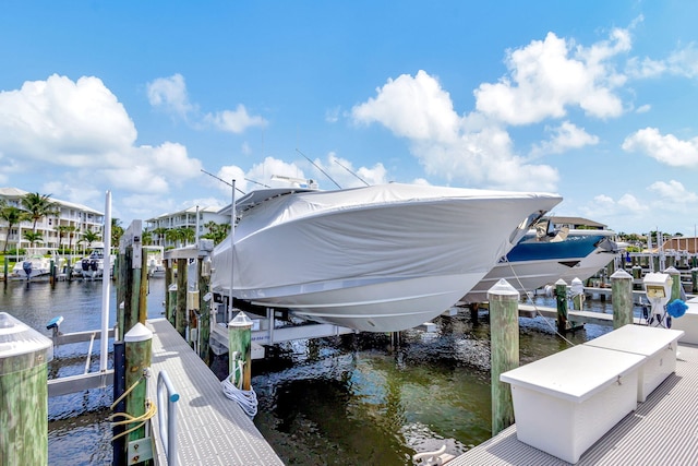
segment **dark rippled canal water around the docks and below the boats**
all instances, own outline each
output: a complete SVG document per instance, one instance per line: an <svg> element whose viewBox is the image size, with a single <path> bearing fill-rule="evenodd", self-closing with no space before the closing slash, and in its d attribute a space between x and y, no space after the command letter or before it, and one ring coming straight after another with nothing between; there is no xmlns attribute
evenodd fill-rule
<svg viewBox="0 0 698 466"><path fill-rule="evenodd" d="M115 290L110 321L115 324ZM153 278L148 318L163 316L165 283ZM551 298L537 297L554 307ZM62 332L100 328L100 282L0 284L0 311L50 336L46 324L62 315ZM610 302L586 310L611 312ZM544 318L520 319L520 360L526 363L566 348ZM394 345L387 334L298 340L253 362L260 402L254 422L288 465L411 465L417 452L459 454L491 437L490 334L486 313L434 320L435 332L407 331ZM611 330L587 324L567 335L583 343ZM88 363L98 370L99 345ZM55 350L49 378L82 373L88 344ZM227 358L212 370L226 377ZM108 416L111 390L89 390L49 399L49 464L111 463Z"/></svg>

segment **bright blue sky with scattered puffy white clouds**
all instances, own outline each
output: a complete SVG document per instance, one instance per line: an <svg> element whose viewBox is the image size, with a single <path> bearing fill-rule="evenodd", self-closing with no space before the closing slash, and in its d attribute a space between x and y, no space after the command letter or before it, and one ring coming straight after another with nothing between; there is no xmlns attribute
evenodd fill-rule
<svg viewBox="0 0 698 466"><path fill-rule="evenodd" d="M125 226L228 203L202 169L245 192L356 174L557 192L556 215L693 236L697 19L695 1L5 0L0 187L99 211L109 190Z"/></svg>

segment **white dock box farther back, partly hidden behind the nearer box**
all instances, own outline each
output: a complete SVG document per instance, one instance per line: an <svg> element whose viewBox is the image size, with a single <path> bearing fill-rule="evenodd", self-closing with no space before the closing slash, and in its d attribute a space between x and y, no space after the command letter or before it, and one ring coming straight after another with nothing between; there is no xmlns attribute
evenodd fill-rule
<svg viewBox="0 0 698 466"><path fill-rule="evenodd" d="M624 325L585 345L646 356L637 375L637 401L645 402L676 370L676 348L683 331L645 325Z"/></svg>

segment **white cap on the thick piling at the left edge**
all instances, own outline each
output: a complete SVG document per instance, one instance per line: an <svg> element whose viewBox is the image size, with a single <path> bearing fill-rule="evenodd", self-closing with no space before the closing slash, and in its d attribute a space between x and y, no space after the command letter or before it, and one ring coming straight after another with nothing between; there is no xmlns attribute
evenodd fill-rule
<svg viewBox="0 0 698 466"><path fill-rule="evenodd" d="M28 356L23 362L24 369L53 359L53 342L31 326L13 318L7 312L0 312L0 368L5 359Z"/></svg>

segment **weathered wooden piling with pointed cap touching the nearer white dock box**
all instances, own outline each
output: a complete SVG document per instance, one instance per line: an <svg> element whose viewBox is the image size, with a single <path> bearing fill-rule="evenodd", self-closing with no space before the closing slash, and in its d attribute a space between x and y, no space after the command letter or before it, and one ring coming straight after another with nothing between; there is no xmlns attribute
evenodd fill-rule
<svg viewBox="0 0 698 466"><path fill-rule="evenodd" d="M492 391L492 437L514 423L514 402L508 384L500 375L519 366L519 292L505 279L488 291L490 300L490 347Z"/></svg>

